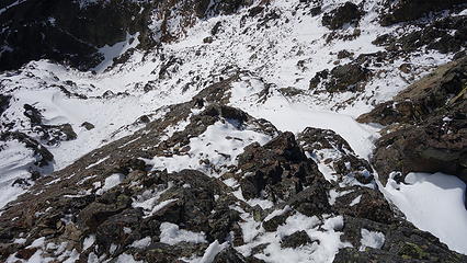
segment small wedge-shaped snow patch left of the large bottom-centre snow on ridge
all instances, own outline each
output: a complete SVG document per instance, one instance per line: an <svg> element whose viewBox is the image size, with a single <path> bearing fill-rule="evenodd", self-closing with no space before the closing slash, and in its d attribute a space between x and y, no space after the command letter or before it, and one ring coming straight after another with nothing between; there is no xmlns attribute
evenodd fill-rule
<svg viewBox="0 0 467 263"><path fill-rule="evenodd" d="M180 229L179 226L171 222L160 225L160 242L167 244L176 244L180 242L205 243L204 232L192 232Z"/></svg>

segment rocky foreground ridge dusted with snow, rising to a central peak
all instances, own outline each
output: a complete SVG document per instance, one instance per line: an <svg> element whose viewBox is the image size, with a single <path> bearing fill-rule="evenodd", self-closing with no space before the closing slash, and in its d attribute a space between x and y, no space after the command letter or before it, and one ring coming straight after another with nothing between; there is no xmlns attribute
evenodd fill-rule
<svg viewBox="0 0 467 263"><path fill-rule="evenodd" d="M335 133L295 137L203 95L229 84L37 181L1 215L3 260L269 262L288 248L297 260L328 261L338 251L335 262L466 260L396 216L369 163ZM219 138L244 149L205 149L197 159L196 147L226 144L197 142L217 125L247 134ZM249 142L257 134L263 144ZM184 156L200 162L159 170L164 158Z"/></svg>

